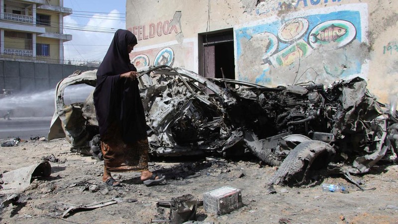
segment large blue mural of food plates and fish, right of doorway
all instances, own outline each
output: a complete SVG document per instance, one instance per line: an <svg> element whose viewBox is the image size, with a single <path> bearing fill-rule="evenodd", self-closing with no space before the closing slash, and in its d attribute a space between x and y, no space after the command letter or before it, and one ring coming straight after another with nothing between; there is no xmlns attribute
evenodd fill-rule
<svg viewBox="0 0 398 224"><path fill-rule="evenodd" d="M264 85L273 82L282 84L284 78L289 79L288 75L293 76L291 80L296 80L294 75L303 76L302 73L308 71L319 76L318 79L332 80L358 75L365 77L367 62L352 53L352 49L355 51L362 43L367 43L367 16L367 4L358 3L311 9L290 13L289 17L282 19L274 16L236 25L235 65L238 66L235 77L255 80L257 84ZM269 40L258 41L256 44L250 42L258 36L269 37ZM255 50L256 48L263 50ZM245 74L248 70L242 66L242 60L250 60L241 56L247 58L250 52L259 54L253 55L251 61L262 58L259 65L251 65L259 68L250 70L257 71L258 74ZM265 73L260 68L268 69Z"/></svg>

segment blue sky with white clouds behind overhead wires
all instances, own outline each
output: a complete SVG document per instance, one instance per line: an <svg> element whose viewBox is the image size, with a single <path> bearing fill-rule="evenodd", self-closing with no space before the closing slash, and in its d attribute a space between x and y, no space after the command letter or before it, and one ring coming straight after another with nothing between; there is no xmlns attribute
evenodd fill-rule
<svg viewBox="0 0 398 224"><path fill-rule="evenodd" d="M64 42L65 61L101 62L113 33L126 28L126 0L64 0L64 7L73 12L64 17L64 33L72 35L71 41Z"/></svg>

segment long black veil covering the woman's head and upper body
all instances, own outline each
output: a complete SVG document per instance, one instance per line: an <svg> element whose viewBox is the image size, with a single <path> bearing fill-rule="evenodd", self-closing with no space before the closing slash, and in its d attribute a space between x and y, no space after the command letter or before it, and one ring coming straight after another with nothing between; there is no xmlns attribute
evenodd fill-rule
<svg viewBox="0 0 398 224"><path fill-rule="evenodd" d="M147 138L138 80L120 78L123 73L137 71L130 63L127 52L127 46L131 44L137 44L134 34L128 30L116 31L97 71L97 86L94 91L100 137L103 138L109 126L116 123L125 143Z"/></svg>

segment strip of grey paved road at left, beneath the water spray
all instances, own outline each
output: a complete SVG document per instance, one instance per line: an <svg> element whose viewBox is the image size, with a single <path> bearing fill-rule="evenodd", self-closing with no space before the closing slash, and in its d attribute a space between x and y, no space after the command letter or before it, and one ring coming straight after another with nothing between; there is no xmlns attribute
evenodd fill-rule
<svg viewBox="0 0 398 224"><path fill-rule="evenodd" d="M11 120L0 118L0 139L19 137L26 140L42 136L47 138L50 123L51 117L11 117Z"/></svg>

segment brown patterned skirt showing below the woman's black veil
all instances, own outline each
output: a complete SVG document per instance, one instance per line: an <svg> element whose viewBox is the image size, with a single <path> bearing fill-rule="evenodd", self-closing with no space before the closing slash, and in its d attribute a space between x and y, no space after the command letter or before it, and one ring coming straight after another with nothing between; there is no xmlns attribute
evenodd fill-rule
<svg viewBox="0 0 398 224"><path fill-rule="evenodd" d="M127 172L148 170L148 139L124 143L118 126L109 126L101 140L101 150L106 171Z"/></svg>

